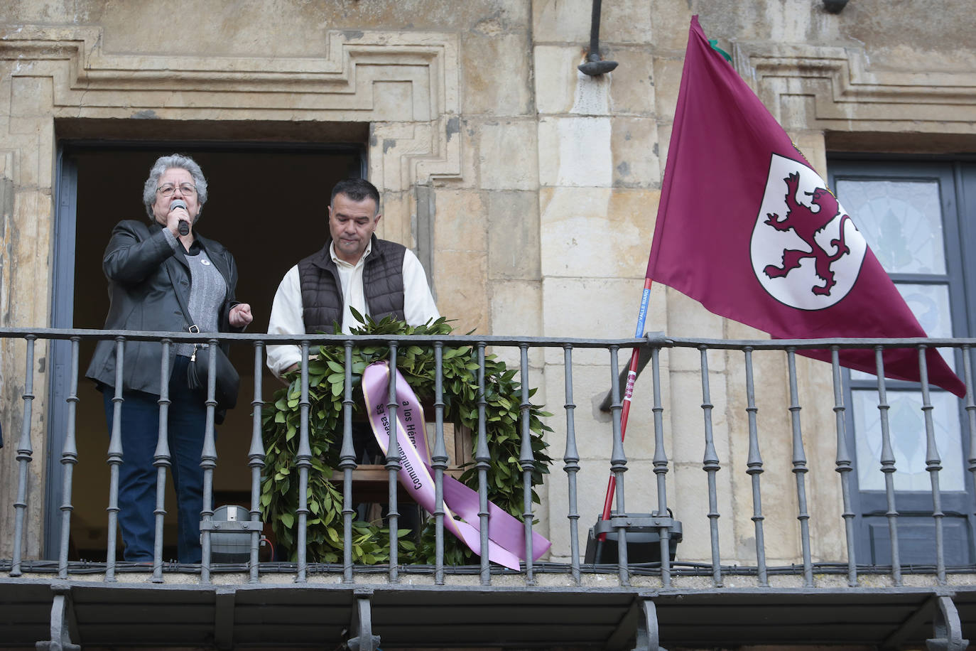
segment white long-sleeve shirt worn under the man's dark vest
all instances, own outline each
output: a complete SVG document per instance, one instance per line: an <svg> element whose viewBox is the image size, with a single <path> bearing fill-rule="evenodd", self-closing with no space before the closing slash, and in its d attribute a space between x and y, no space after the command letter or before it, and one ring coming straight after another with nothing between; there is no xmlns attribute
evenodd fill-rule
<svg viewBox="0 0 976 651"><path fill-rule="evenodd" d="M343 332L349 334L359 322L352 316L350 308L354 307L361 314L366 314L366 298L363 293L363 264L373 250L372 243L366 247L359 262L348 264L336 257L335 248L329 245L329 255L339 270L339 280L343 292ZM302 281L299 277L299 265L288 269L288 273L278 285L271 304L271 316L267 323L268 335L301 335L305 334L305 320L302 318L304 305L302 304ZM407 249L403 256L403 312L408 324L423 325L430 319L440 317L437 305L427 285L427 274L424 265L417 259L414 252ZM276 377L287 370L292 364L302 361L300 346L280 345L267 346L267 368Z"/></svg>

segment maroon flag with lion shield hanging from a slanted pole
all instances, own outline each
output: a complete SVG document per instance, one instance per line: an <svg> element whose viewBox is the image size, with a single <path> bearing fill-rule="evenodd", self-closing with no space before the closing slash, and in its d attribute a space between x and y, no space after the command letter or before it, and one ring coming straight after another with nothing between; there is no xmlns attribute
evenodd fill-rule
<svg viewBox="0 0 976 651"><path fill-rule="evenodd" d="M925 337L827 183L691 20L647 277L777 339ZM830 359L827 350L802 354ZM841 349L874 373L874 350ZM934 348L929 382L965 386ZM913 348L885 375L918 382Z"/></svg>

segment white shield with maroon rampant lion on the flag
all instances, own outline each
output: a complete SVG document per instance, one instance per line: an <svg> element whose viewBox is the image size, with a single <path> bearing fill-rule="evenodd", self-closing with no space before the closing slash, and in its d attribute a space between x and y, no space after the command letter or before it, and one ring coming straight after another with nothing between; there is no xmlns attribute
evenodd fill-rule
<svg viewBox="0 0 976 651"><path fill-rule="evenodd" d="M752 271L774 299L825 309L847 296L868 244L827 183L806 165L772 154L752 228Z"/></svg>

